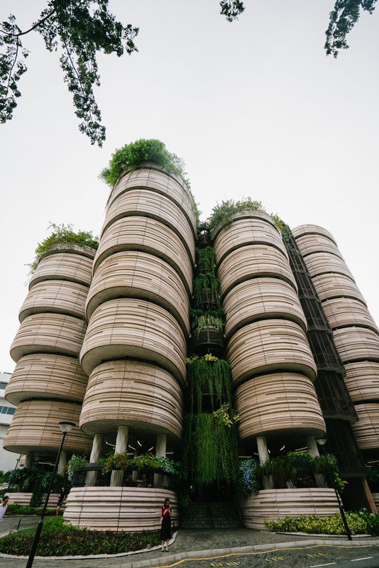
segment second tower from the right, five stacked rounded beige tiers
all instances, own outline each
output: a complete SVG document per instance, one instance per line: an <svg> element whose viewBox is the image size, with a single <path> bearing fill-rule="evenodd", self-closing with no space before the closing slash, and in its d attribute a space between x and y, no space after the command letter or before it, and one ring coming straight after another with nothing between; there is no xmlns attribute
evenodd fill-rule
<svg viewBox="0 0 379 568"><path fill-rule="evenodd" d="M257 439L265 461L268 447L262 450L259 440L276 447L287 437L305 442L325 432L307 323L273 219L258 211L236 213L231 224L214 229L212 238L239 434L248 445Z"/></svg>

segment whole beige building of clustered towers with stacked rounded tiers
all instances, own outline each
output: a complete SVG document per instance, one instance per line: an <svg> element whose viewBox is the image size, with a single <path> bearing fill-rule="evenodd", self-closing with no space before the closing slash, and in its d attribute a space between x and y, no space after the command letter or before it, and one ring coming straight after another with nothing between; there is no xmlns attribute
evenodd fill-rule
<svg viewBox="0 0 379 568"><path fill-rule="evenodd" d="M209 339L204 352L225 346L241 456L318 457L326 437L351 487L346 506L375 510L365 463L378 457L379 332L333 237L311 225L281 232L268 214L246 210L207 238L226 322L222 342ZM60 471L72 453L89 465L67 501L70 523L158 528L166 496L177 515L164 476L106 477L99 464L112 447L180 455L196 244L187 186L145 163L114 186L96 254L55 247L33 274L11 346L6 398L18 408L4 447L26 454L27 465L51 459L57 422L77 424ZM322 476L297 488L268 476L240 506L246 526L260 528L291 511L331 514L337 503Z"/></svg>

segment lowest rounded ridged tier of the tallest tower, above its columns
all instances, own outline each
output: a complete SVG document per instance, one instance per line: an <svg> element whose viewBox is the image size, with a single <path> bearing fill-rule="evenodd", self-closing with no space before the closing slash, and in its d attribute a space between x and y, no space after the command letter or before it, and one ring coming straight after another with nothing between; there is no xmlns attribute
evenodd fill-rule
<svg viewBox="0 0 379 568"><path fill-rule="evenodd" d="M114 432L121 424L180 439L182 405L182 390L164 369L142 361L109 361L89 377L80 427L94 435Z"/></svg>

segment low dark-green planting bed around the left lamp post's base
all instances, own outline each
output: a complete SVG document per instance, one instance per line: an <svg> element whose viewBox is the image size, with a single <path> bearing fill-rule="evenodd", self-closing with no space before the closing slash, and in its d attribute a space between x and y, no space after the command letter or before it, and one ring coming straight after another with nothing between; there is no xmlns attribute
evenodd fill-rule
<svg viewBox="0 0 379 568"><path fill-rule="evenodd" d="M35 528L18 530L0 539L0 552L28 555ZM76 556L119 554L160 544L159 532L111 532L64 525L62 517L46 519L36 554L38 556Z"/></svg>

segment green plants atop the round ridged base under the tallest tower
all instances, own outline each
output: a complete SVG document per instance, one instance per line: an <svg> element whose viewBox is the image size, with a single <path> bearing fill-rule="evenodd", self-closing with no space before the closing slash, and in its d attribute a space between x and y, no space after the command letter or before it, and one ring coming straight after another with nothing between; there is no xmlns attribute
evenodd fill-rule
<svg viewBox="0 0 379 568"><path fill-rule="evenodd" d="M127 452L111 454L104 463L103 472L121 469L122 471L155 471L160 474L181 475L180 464L167 457L141 454L131 458Z"/></svg>

